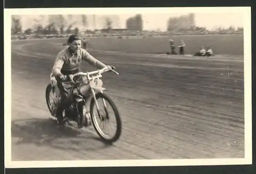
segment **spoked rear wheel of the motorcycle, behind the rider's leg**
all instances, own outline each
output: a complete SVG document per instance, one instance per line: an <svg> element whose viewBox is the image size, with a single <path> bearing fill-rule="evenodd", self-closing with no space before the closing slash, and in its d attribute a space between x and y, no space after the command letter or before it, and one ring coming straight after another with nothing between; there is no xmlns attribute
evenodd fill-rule
<svg viewBox="0 0 256 174"><path fill-rule="evenodd" d="M58 98L56 97L56 94L53 91L52 85L48 84L48 86L46 87L46 103L52 116L54 116L56 112L57 101Z"/></svg>

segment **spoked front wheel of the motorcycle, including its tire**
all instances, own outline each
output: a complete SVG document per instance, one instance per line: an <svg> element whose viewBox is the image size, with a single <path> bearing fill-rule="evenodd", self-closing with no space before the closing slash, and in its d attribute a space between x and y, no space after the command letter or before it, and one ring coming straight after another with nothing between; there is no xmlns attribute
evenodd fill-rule
<svg viewBox="0 0 256 174"><path fill-rule="evenodd" d="M121 124L119 111L114 101L112 100L112 98L104 93L97 93L96 100L99 106L99 112L97 111L94 98L92 99L92 102L90 105L90 113L91 113L93 127L97 132L97 134L106 143L113 143L117 141L121 135L122 124ZM105 106L104 106L104 103L105 103ZM111 109L113 111L111 111ZM116 121L115 123L116 129L114 131L114 134L111 136L109 134L104 133L102 128L100 127L101 126L108 127L110 129L109 123L112 120Z"/></svg>

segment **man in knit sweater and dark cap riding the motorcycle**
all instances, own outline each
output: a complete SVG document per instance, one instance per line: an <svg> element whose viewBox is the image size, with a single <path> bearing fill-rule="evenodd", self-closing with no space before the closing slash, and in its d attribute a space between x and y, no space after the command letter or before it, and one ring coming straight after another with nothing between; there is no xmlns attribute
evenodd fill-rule
<svg viewBox="0 0 256 174"><path fill-rule="evenodd" d="M92 66L101 69L106 65L91 56L85 49L81 48L82 39L77 35L71 35L68 39L69 46L62 49L53 64L52 73L57 80L57 86L60 92L60 103L56 110L56 117L59 125L63 125L62 112L65 106L69 104L71 82L68 82L70 74L81 71L81 61L84 60ZM113 69L114 66L111 65Z"/></svg>

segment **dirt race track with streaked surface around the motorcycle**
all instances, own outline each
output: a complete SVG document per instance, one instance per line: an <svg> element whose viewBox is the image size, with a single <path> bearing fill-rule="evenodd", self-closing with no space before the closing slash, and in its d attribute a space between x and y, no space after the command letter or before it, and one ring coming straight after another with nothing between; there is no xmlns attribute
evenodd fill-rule
<svg viewBox="0 0 256 174"><path fill-rule="evenodd" d="M244 157L242 60L90 52L120 73L104 74L123 122L120 140L105 146L93 128L60 132L48 119L45 89L60 49L12 42L12 160Z"/></svg>

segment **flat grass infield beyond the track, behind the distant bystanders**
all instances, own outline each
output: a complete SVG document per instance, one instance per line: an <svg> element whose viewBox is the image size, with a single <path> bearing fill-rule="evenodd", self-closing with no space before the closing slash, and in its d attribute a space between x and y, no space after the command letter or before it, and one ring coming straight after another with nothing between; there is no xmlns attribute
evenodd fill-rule
<svg viewBox="0 0 256 174"><path fill-rule="evenodd" d="M169 37L156 36L147 38L118 39L118 38L89 38L89 47L105 50L130 53L165 54L170 52ZM173 36L176 50L180 40L186 43L185 54L198 52L202 45L211 46L217 55L243 55L243 35L197 35Z"/></svg>

